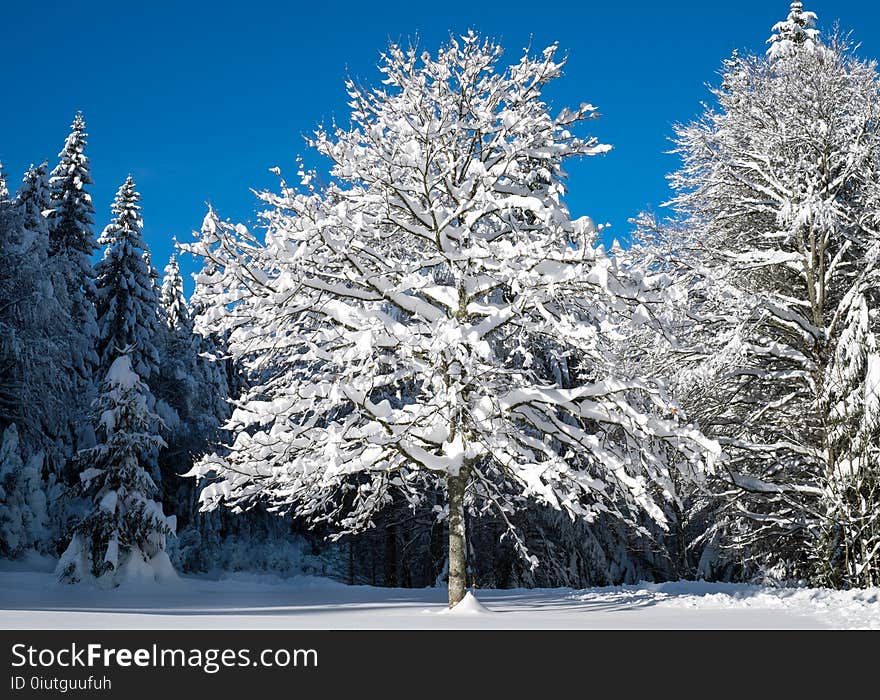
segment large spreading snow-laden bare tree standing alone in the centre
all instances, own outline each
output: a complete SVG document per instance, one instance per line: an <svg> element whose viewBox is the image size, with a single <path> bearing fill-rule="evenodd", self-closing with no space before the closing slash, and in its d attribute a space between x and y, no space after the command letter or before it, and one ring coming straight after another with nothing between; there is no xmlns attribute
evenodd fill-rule
<svg viewBox="0 0 880 700"><path fill-rule="evenodd" d="M330 184L301 171L263 194L263 240L212 212L191 246L214 263L205 330L228 331L256 381L232 443L191 472L218 477L203 507L265 498L355 531L393 490L445 486L451 604L468 505L662 520L667 446L686 469L713 449L611 367L616 328L655 296L563 202L563 162L609 150L574 133L595 109L550 115L555 46L506 68L501 53L474 34L436 55L392 44L380 88L346 83L350 126L312 140Z"/></svg>

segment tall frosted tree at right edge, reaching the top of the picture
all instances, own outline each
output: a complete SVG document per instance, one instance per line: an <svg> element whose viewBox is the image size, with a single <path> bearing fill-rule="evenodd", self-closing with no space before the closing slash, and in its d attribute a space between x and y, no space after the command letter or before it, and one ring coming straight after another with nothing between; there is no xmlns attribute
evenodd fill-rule
<svg viewBox="0 0 880 700"><path fill-rule="evenodd" d="M871 586L880 83L814 23L792 3L765 56L725 62L717 107L678 129L680 218L647 222L648 255L680 273L676 384L729 456L711 529L747 573Z"/></svg>

